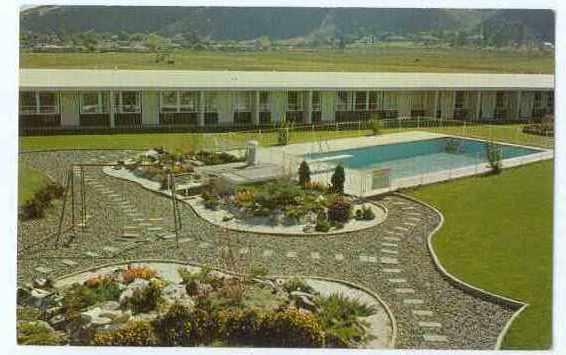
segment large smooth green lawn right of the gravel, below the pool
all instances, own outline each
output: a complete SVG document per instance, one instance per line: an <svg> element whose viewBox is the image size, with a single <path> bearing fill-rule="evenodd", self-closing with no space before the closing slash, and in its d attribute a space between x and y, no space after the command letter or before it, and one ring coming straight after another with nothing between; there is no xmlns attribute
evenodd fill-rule
<svg viewBox="0 0 566 355"><path fill-rule="evenodd" d="M548 349L552 319L552 161L414 189L445 217L434 239L458 278L529 303L506 349Z"/></svg>

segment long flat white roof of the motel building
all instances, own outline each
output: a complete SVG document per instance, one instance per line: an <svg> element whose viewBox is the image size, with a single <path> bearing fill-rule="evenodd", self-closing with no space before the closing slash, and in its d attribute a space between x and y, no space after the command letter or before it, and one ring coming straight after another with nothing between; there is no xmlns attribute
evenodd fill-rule
<svg viewBox="0 0 566 355"><path fill-rule="evenodd" d="M20 69L29 90L549 90L554 75Z"/></svg>

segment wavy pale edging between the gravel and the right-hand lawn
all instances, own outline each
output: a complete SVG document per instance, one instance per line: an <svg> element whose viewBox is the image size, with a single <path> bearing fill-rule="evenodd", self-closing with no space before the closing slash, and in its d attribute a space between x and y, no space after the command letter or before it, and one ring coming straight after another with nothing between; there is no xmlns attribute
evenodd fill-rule
<svg viewBox="0 0 566 355"><path fill-rule="evenodd" d="M511 328L512 323L529 306L529 304L526 303L526 302L522 302L522 301L510 298L510 297L505 297L505 296L501 296L501 295L498 295L498 294L493 293L493 292L489 292L489 291L487 291L483 288L480 288L480 287L473 286L473 285L471 285L467 282L460 280L459 278L457 278L456 276L454 276L450 272L448 272L444 268L444 266L442 266L442 263L440 262L440 259L436 255L436 252L434 251L434 247L432 245L432 241L433 241L434 237L437 235L436 232L438 232L440 230L440 228L442 228L442 226L444 225L444 215L436 207L434 207L434 206L432 206L432 205L430 205L430 204L428 204L424 201L421 201L421 200L419 200L415 197L408 196L408 195L400 193L400 192L395 192L394 194L401 196L403 198L406 198L408 200L411 200L411 201L418 203L420 205L423 205L425 207L428 207L431 210L433 210L435 213L437 213L438 216L440 217L440 223L434 228L434 230L432 230L429 233L429 235L427 237L427 247L428 247L429 253L432 256L434 266L441 273L441 275L444 277L444 279L446 279L448 282L450 282L453 286L463 290L464 292L466 292L466 293L468 293L468 294L470 294L474 297L479 297L479 298L485 299L487 301L490 301L490 302L493 302L493 303L496 303L496 304L501 304L501 305L510 307L512 309L516 309L513 316L511 318L509 318L509 320L507 321L507 323L505 324L505 326L501 330L501 333L499 333L499 336L497 337L497 342L495 344L494 350L501 350L501 346L503 345L503 340L504 340L505 336L507 335L509 329Z"/></svg>

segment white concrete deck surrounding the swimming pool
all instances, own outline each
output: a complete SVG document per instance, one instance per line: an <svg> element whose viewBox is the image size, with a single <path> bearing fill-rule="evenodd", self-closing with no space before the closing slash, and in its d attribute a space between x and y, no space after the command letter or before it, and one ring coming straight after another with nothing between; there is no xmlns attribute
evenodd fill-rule
<svg viewBox="0 0 566 355"><path fill-rule="evenodd" d="M258 151L257 157L260 164L274 164L279 165L283 168L283 171L288 176L293 176L296 174L297 166L304 159L305 154L309 153L329 153L337 152L336 159L332 156L327 157L327 161L316 162L316 169L311 167L311 171L317 171L312 174L311 178L315 181L321 182L323 184L329 184L330 178L332 176L332 171L335 164L332 162L340 161L340 157L343 156L341 151L358 149L365 147L372 147L377 145L385 144L395 144L395 143L405 143L405 142L415 142L420 140L429 140L436 138L461 138L461 139L472 139L476 141L486 141L485 139L464 137L458 135L448 135L439 134L423 131L410 131L401 133L391 133L378 136L366 136L366 137L353 137L353 138L341 138L333 140L324 140L320 142L310 142L310 143L298 143L290 144L286 146L271 147L260 149ZM529 149L535 149L539 152L530 154L528 156L504 159L502 161L503 168L510 168L514 166L524 165L528 163L533 163L540 160L552 159L554 157L553 150L531 147L525 145L497 142L498 144L524 147ZM312 164L314 165L314 164ZM392 180L387 187L373 188L371 186L371 174L374 169L359 170L359 169L348 169L346 168L346 182L344 184L344 190L346 193L354 196L373 196L378 194L383 194L387 192L396 191L402 188L408 188L419 185L432 184L441 181L452 180L455 178L472 176L477 174L483 174L490 171L489 166L486 163L469 165L461 168L446 169L441 171L435 171L431 173L419 174L415 176L410 176L406 178L399 178Z"/></svg>

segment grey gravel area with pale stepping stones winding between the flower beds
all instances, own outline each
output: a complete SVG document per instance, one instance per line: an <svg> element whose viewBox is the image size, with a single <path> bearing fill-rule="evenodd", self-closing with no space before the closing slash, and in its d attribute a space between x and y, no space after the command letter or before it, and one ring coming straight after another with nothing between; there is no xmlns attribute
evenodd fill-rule
<svg viewBox="0 0 566 355"><path fill-rule="evenodd" d="M63 181L65 167L72 162L116 160L127 154L24 153L20 162ZM181 204L184 228L177 248L174 239L167 239L174 228L169 199L109 177L99 167L86 168L85 173L90 215L86 230L77 233L68 247L55 249L54 239L50 238L48 245L23 252L18 258L19 282L41 274L58 277L104 263L141 258L207 263L236 268L234 271L242 265L261 264L275 275L330 277L373 290L395 316L398 348L493 349L514 313L508 307L471 296L442 277L426 246L426 237L440 223L440 217L400 196L373 199L389 211L379 226L347 235L308 237L225 230L200 219ZM54 208L41 221L20 223L19 247L31 245L54 230L58 213L59 209ZM64 224L70 224L69 217ZM121 238L125 232L140 236ZM160 234L166 239L159 239ZM68 240L68 235L63 239ZM240 261L224 265L226 259L220 255L225 248Z"/></svg>

